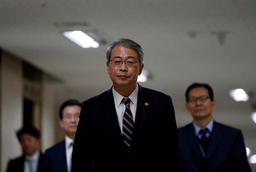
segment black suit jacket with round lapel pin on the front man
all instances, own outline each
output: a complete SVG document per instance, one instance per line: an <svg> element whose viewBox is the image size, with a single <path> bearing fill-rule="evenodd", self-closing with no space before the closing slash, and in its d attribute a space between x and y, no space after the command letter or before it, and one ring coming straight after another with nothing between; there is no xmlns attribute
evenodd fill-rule
<svg viewBox="0 0 256 172"><path fill-rule="evenodd" d="M139 85L130 153L117 120L112 88L84 101L74 141L72 172L90 171L93 157L97 172L179 172L171 97Z"/></svg>

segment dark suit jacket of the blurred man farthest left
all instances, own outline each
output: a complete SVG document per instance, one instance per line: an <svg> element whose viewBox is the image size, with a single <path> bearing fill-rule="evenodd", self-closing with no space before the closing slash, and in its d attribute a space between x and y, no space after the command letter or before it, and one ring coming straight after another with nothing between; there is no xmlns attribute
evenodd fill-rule
<svg viewBox="0 0 256 172"><path fill-rule="evenodd" d="M10 160L6 172L23 172L25 155L14 160ZM40 153L37 172L43 172L44 154Z"/></svg>

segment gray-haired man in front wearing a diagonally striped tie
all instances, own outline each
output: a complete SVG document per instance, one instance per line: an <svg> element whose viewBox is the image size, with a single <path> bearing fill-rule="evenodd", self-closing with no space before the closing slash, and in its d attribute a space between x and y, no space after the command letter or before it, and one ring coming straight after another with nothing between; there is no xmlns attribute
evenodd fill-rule
<svg viewBox="0 0 256 172"><path fill-rule="evenodd" d="M107 48L113 87L83 102L72 172L180 171L177 126L170 96L137 84L143 51L130 39Z"/></svg>

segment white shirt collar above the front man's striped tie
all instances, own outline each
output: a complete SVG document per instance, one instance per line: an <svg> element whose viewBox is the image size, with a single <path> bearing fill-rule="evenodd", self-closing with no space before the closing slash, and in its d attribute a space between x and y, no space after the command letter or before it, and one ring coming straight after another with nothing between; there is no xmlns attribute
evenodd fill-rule
<svg viewBox="0 0 256 172"><path fill-rule="evenodd" d="M113 96L114 96L114 101L115 104L117 106L117 108L119 107L119 105L121 104L124 96L122 96L121 94L119 94L118 92L116 92L116 90L114 89L114 87L112 87L112 91L113 91ZM139 92L139 86L137 84L135 90L133 90L132 94L129 97L125 97L125 98L130 98L131 102L137 106L137 100L138 100L138 92Z"/></svg>

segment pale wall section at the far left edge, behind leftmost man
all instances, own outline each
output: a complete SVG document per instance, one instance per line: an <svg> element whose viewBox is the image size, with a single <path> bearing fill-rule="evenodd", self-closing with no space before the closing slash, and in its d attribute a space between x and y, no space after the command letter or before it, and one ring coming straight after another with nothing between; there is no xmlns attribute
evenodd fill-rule
<svg viewBox="0 0 256 172"><path fill-rule="evenodd" d="M6 170L10 158L21 154L16 131L22 126L22 62L2 52L1 58L1 169Z"/></svg>

